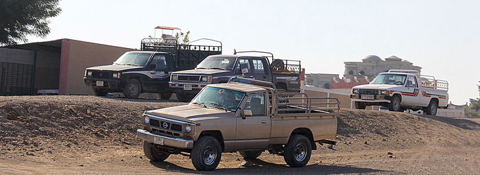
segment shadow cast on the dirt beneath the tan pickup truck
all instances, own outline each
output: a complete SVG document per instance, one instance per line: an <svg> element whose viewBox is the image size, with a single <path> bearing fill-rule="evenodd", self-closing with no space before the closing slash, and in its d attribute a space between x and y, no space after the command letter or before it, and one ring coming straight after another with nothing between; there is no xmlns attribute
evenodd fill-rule
<svg viewBox="0 0 480 175"><path fill-rule="evenodd" d="M360 173L381 173L401 174L398 172L390 172L385 170L375 170L363 167L352 167L350 165L327 165L312 164L305 167L289 167L287 165L279 165L275 163L265 162L259 159L246 161L247 167L237 168L218 168L211 172L200 172L185 167L180 167L169 162L154 162L152 165L160 170L167 172L182 172L188 174L360 174Z"/></svg>

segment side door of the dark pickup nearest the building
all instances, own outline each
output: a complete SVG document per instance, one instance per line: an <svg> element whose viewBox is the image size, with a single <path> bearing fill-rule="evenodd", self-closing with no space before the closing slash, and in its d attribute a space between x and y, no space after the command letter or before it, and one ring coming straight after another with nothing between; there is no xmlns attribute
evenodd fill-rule
<svg viewBox="0 0 480 175"><path fill-rule="evenodd" d="M169 67L167 65L167 55L155 54L147 67L149 80L145 81L145 85L149 91L162 91L168 88ZM167 83L166 83L167 82Z"/></svg>

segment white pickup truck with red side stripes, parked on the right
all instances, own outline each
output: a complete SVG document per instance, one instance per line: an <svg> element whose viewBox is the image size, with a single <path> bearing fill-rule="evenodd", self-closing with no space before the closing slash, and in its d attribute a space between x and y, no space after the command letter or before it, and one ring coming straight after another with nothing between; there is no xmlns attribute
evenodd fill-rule
<svg viewBox="0 0 480 175"><path fill-rule="evenodd" d="M380 73L370 84L354 86L350 95L355 108L384 106L390 111L423 110L436 115L448 104L448 82L415 70L392 69Z"/></svg>

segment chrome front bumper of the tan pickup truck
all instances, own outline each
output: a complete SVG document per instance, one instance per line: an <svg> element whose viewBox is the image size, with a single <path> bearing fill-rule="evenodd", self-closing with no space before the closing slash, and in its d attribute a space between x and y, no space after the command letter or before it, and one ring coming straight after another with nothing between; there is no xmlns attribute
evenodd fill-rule
<svg viewBox="0 0 480 175"><path fill-rule="evenodd" d="M171 137L165 137L161 135L154 135L147 130L138 129L136 130L136 137L147 141L148 143L154 143L154 137L163 138L163 145L170 146L173 148L182 148L182 149L191 149L193 148L193 140L185 139L175 139Z"/></svg>

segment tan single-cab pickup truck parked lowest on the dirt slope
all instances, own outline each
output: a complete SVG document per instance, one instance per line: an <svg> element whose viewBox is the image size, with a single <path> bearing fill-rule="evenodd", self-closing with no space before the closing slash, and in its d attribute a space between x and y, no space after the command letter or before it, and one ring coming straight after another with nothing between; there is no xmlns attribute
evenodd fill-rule
<svg viewBox="0 0 480 175"><path fill-rule="evenodd" d="M215 170L222 152L256 159L267 150L303 167L315 143L335 144L339 102L332 97L279 93L274 84L232 78L206 86L187 105L143 114L143 151L152 161L191 156L197 170Z"/></svg>

